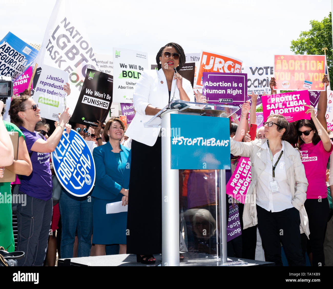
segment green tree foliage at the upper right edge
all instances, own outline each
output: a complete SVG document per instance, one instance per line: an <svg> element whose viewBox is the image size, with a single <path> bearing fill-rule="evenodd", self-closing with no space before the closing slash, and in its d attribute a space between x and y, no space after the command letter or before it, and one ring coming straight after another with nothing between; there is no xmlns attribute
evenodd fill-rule
<svg viewBox="0 0 333 289"><path fill-rule="evenodd" d="M321 51L323 47L327 47L326 58L328 71L333 76L332 61L332 14L324 17L322 21L311 20L311 29L302 31L299 38L291 41L290 49L295 54L324 54Z"/></svg>

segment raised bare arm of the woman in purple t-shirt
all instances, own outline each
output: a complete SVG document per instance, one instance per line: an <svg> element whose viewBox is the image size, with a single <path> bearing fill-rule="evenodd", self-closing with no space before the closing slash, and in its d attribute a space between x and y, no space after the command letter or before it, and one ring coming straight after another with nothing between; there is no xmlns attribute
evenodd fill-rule
<svg viewBox="0 0 333 289"><path fill-rule="evenodd" d="M69 108L65 109L64 112L59 116L59 123L54 130L53 134L46 140L38 139L32 146L31 150L36 152L52 152L57 147L62 133L66 128L67 133L71 131L71 126L67 124L69 121Z"/></svg>

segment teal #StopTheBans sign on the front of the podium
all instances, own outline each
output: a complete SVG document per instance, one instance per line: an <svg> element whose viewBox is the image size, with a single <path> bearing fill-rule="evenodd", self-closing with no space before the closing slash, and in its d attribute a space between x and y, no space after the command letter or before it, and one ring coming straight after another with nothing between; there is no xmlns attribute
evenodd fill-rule
<svg viewBox="0 0 333 289"><path fill-rule="evenodd" d="M171 169L230 169L229 119L170 115Z"/></svg>

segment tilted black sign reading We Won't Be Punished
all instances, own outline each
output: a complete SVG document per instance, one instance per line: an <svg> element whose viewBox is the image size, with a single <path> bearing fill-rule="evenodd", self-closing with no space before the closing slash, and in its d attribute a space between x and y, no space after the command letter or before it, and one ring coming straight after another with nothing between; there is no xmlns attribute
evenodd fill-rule
<svg viewBox="0 0 333 289"><path fill-rule="evenodd" d="M86 126L103 123L111 107L112 90L112 75L89 68L71 121Z"/></svg>

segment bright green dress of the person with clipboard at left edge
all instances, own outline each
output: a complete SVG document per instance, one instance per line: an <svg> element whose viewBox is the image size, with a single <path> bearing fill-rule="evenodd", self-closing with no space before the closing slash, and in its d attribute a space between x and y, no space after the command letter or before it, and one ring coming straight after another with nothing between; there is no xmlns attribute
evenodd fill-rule
<svg viewBox="0 0 333 289"><path fill-rule="evenodd" d="M12 123L3 121L8 132L18 132L19 138L24 135L20 129ZM12 195L10 182L0 183L0 246L8 252L14 252L14 235L12 226Z"/></svg>

